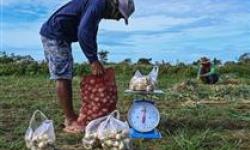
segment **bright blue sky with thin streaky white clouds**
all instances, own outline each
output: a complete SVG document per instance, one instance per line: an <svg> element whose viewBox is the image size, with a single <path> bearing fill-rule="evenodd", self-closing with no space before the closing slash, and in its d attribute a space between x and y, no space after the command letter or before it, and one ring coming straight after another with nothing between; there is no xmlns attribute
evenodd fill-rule
<svg viewBox="0 0 250 150"><path fill-rule="evenodd" d="M69 0L0 0L0 51L44 59L39 30ZM207 56L237 60L250 52L250 0L135 0L135 13L123 20L102 20L99 50L109 61L152 58L192 62ZM86 61L78 43L76 62Z"/></svg>

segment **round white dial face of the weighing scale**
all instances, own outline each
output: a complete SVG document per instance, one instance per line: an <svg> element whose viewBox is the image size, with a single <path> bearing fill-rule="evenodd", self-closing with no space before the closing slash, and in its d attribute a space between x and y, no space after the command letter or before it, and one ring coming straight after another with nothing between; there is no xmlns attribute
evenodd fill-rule
<svg viewBox="0 0 250 150"><path fill-rule="evenodd" d="M160 114L152 103L134 102L128 111L128 122L139 132L149 132L159 124Z"/></svg>

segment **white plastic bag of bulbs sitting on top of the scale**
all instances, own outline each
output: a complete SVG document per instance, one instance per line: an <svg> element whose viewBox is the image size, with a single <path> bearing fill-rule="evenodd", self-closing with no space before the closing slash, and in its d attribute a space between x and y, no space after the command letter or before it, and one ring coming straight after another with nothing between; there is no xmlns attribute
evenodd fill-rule
<svg viewBox="0 0 250 150"><path fill-rule="evenodd" d="M148 75L142 75L136 71L129 83L129 89L133 91L153 91L157 84L159 67L154 66Z"/></svg>

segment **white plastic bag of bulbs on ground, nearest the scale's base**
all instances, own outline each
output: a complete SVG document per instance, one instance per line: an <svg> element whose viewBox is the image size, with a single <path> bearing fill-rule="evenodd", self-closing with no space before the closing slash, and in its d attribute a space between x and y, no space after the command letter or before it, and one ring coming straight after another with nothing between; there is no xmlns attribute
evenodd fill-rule
<svg viewBox="0 0 250 150"><path fill-rule="evenodd" d="M120 113L115 110L105 121L103 121L97 130L97 137L101 141L102 147L106 150L129 150L129 125L122 122Z"/></svg>

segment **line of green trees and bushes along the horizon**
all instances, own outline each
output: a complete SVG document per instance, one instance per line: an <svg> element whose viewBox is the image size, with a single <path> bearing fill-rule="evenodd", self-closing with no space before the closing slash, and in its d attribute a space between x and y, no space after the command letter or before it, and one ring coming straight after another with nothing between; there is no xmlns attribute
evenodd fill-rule
<svg viewBox="0 0 250 150"><path fill-rule="evenodd" d="M117 73L128 74L131 76L137 69L148 72L152 65L160 66L160 74L168 75L184 75L187 77L196 76L197 66L199 61L194 61L191 64L185 64L178 62L172 65L168 62L156 62L152 63L151 58L140 58L136 63L132 63L131 59L126 58L119 63L112 63L108 61L108 51L100 51L99 58L105 64L105 66L112 66L115 68ZM250 74L250 53L245 53L239 57L238 61L228 61L224 64L221 60L215 58L217 65L220 65L220 73L234 73L239 76L248 77ZM88 63L75 63L74 64L74 75L82 76L90 73ZM44 75L48 76L49 70L47 62L36 61L30 55L20 56L15 54L8 55L6 52L0 52L0 76L6 75Z"/></svg>

